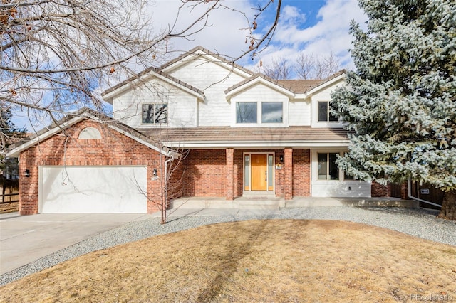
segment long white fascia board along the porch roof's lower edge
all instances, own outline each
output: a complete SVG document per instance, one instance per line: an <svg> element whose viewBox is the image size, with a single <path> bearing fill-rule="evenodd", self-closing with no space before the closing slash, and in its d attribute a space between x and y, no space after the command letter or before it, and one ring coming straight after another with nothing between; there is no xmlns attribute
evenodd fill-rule
<svg viewBox="0 0 456 303"><path fill-rule="evenodd" d="M350 144L349 140L319 140L319 141L281 141L281 142L252 142L252 141L239 141L239 142L221 142L221 141L213 141L213 142L167 142L167 146L169 147L180 147L185 149L191 148L202 148L202 149L223 149L223 148L270 148L270 147L278 147L278 148L326 148L326 147L333 147L333 148L346 148Z"/></svg>

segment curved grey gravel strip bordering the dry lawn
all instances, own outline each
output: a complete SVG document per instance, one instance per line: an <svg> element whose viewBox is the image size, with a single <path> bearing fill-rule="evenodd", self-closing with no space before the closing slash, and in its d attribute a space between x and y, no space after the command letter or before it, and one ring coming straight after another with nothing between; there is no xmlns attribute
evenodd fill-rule
<svg viewBox="0 0 456 303"><path fill-rule="evenodd" d="M110 248L153 235L196 228L201 225L250 219L346 220L388 228L419 238L456 246L456 222L438 219L436 215L436 211L425 209L330 206L281 208L280 214L274 213L261 216L170 216L168 217L168 223L165 225L160 225L160 218L150 218L126 223L118 228L100 233L76 245L7 272L0 276L0 286L95 250Z"/></svg>

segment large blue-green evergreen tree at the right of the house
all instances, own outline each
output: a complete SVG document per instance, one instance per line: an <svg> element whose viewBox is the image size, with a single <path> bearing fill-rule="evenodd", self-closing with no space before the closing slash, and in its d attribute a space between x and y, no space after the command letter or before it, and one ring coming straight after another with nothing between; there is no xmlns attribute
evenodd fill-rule
<svg viewBox="0 0 456 303"><path fill-rule="evenodd" d="M360 0L352 22L356 71L333 93L353 130L339 165L363 180L431 184L440 218L456 220L456 2Z"/></svg>

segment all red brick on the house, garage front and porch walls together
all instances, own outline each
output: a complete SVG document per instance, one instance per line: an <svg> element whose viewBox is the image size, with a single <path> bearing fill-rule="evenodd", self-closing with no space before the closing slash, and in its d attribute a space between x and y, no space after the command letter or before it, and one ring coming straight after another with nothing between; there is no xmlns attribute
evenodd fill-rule
<svg viewBox="0 0 456 303"><path fill-rule="evenodd" d="M78 139L81 130L95 127L101 139ZM168 202L181 196L217 196L233 200L244 191L244 153L274 153L274 191L291 200L311 196L310 149L192 149L167 166ZM165 180L165 157L154 149L103 124L83 120L20 154L21 215L38 213L39 166L147 166L147 213L160 210ZM153 180L153 170L160 178ZM372 196L390 196L388 186L372 184ZM402 191L406 195L406 188ZM401 195L402 196L402 195Z"/></svg>

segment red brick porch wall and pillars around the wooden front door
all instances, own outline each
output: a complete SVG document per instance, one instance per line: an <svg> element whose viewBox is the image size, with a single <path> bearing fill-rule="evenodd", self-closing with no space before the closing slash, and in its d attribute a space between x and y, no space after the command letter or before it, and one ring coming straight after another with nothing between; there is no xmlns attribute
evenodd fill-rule
<svg viewBox="0 0 456 303"><path fill-rule="evenodd" d="M288 197L310 196L310 150L291 151ZM274 153L274 191L277 197L283 197L287 169L280 157L284 157L284 149L192 149L182 161L185 171L183 196L224 196L227 200L242 196L244 153Z"/></svg>

